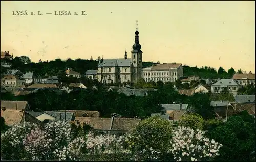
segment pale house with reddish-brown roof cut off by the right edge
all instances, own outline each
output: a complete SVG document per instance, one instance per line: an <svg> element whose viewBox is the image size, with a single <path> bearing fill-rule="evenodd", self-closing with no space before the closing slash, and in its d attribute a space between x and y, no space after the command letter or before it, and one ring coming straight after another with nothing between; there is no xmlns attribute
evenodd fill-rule
<svg viewBox="0 0 256 162"><path fill-rule="evenodd" d="M255 74L234 74L233 79L240 85L253 84L255 86Z"/></svg>

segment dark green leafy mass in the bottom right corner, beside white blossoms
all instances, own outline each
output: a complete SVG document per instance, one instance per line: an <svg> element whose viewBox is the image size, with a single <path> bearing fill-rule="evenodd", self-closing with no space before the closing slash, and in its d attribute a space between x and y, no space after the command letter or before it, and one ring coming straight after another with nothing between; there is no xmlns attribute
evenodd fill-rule
<svg viewBox="0 0 256 162"><path fill-rule="evenodd" d="M217 140L223 147L216 161L251 161L255 151L255 123L248 113L228 118L226 123L210 129L207 136Z"/></svg>

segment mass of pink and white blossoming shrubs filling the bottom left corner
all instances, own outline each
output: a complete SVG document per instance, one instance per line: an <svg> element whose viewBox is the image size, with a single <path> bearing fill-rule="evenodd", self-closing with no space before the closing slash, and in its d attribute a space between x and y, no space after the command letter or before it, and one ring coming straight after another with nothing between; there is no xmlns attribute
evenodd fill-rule
<svg viewBox="0 0 256 162"><path fill-rule="evenodd" d="M45 130L23 122L1 135L1 152L7 160L74 160L85 141L72 137L71 125L65 121L47 123Z"/></svg>

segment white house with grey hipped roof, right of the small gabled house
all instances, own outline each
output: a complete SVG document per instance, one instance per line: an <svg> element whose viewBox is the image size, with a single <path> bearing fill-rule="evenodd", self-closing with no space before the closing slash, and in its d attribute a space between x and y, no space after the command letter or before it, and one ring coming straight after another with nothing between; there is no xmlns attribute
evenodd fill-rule
<svg viewBox="0 0 256 162"><path fill-rule="evenodd" d="M241 85L238 84L234 79L220 79L211 85L211 92L220 93L224 88L226 88L229 93L237 95L239 87L241 87Z"/></svg>

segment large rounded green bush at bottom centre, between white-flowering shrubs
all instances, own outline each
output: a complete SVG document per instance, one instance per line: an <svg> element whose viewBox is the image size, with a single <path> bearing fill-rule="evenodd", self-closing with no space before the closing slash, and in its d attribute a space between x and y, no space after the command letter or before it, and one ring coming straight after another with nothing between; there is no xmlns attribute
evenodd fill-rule
<svg viewBox="0 0 256 162"><path fill-rule="evenodd" d="M126 137L134 160L157 159L169 148L172 123L158 116L142 120Z"/></svg>

